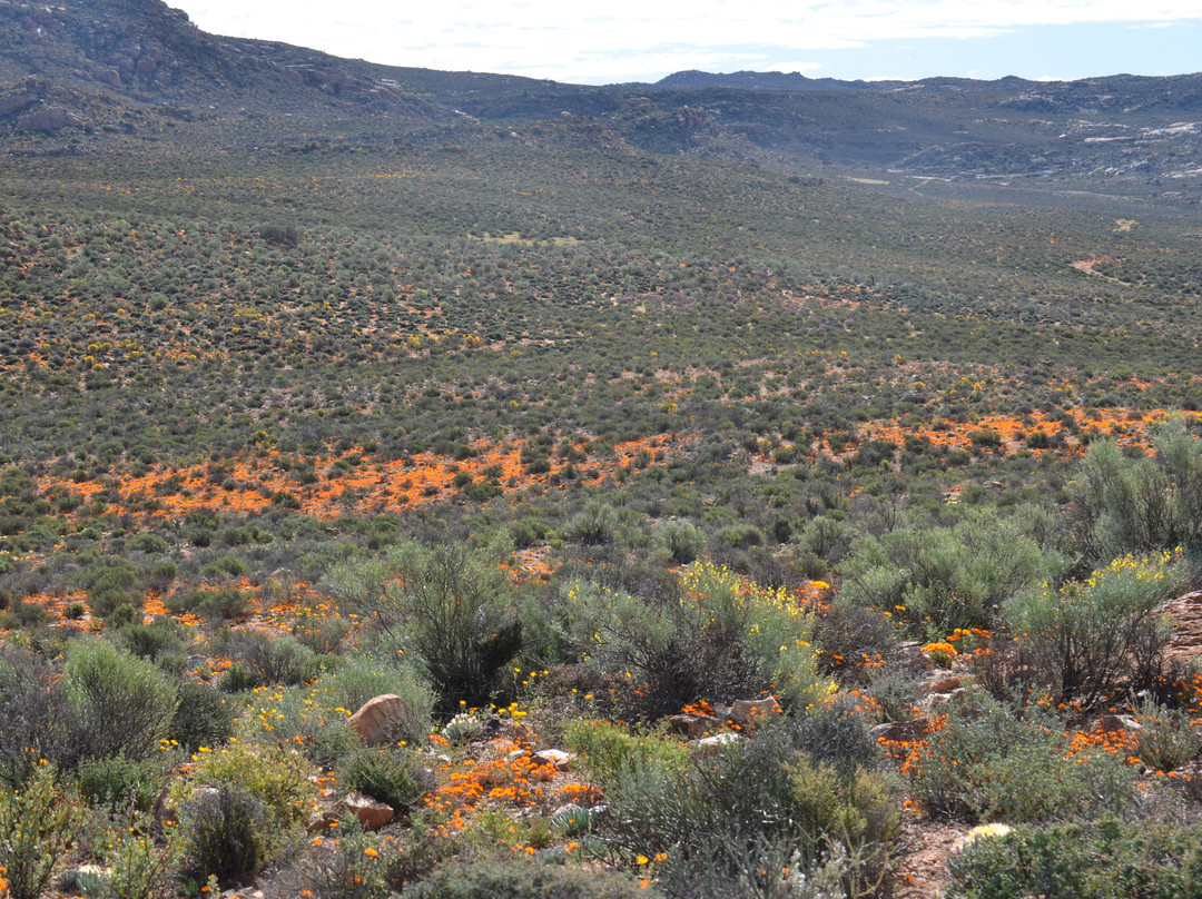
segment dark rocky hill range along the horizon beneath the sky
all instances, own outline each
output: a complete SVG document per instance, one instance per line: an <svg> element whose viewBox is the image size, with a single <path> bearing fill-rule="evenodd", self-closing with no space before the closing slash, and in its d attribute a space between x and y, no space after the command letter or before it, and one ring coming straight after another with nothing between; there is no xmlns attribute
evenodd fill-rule
<svg viewBox="0 0 1202 899"><path fill-rule="evenodd" d="M457 129L571 120L597 145L994 185L1202 194L1202 76L840 82L677 72L589 87L347 60L218 37L161 0L0 0L6 136L137 133L155 117L376 119ZM605 132L605 133L601 133ZM482 132L483 133L483 132ZM606 136L608 135L608 136Z"/></svg>

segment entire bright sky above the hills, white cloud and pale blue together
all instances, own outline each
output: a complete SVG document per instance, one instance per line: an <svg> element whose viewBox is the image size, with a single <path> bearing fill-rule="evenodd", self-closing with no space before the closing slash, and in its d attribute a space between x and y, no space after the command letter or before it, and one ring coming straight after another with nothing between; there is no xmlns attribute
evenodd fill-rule
<svg viewBox="0 0 1202 899"><path fill-rule="evenodd" d="M1202 71L1198 0L167 0L206 31L576 83L702 69L1073 79Z"/></svg>

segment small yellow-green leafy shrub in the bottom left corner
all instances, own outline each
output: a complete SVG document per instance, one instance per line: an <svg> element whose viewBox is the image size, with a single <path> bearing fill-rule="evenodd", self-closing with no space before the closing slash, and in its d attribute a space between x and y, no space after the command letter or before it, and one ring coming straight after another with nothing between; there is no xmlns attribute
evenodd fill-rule
<svg viewBox="0 0 1202 899"><path fill-rule="evenodd" d="M37 899L82 826L78 798L55 785L48 764L17 790L0 787L0 869L8 895Z"/></svg>

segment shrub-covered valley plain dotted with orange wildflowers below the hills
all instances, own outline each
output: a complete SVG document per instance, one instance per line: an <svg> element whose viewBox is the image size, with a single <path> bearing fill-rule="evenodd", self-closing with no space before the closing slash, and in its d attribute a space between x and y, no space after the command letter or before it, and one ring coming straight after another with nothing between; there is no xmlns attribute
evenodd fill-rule
<svg viewBox="0 0 1202 899"><path fill-rule="evenodd" d="M11 895L1202 891L1196 220L168 130L5 159Z"/></svg>

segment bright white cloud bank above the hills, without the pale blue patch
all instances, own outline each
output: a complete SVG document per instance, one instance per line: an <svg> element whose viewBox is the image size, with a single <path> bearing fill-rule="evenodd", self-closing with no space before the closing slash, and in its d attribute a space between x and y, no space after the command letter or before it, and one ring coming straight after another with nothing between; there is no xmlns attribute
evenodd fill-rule
<svg viewBox="0 0 1202 899"><path fill-rule="evenodd" d="M874 41L980 38L1020 26L1166 26L1202 18L1197 0L168 0L203 29L317 47L393 65L516 72L561 81L738 66L732 47L773 55ZM809 62L809 66L816 64ZM750 67L744 65L744 67ZM780 69L779 65L773 65Z"/></svg>

